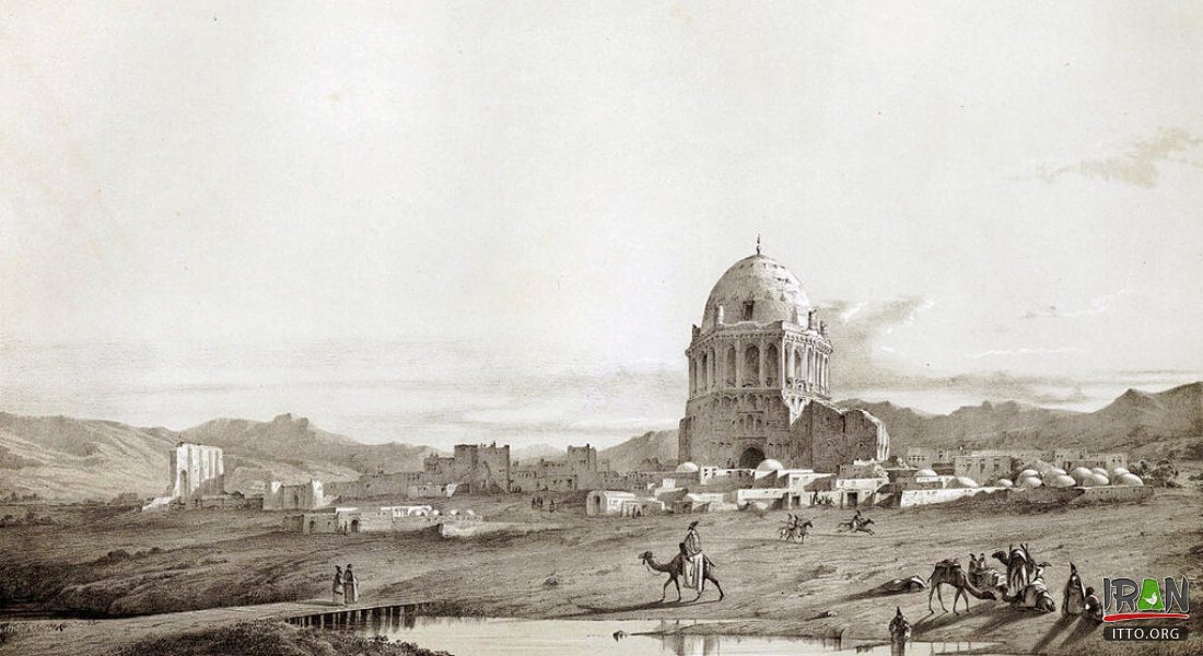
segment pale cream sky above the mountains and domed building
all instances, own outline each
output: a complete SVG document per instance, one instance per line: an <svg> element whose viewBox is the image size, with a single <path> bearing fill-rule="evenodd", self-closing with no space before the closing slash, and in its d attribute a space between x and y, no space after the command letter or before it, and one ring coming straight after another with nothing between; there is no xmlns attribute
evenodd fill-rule
<svg viewBox="0 0 1203 656"><path fill-rule="evenodd" d="M0 2L0 409L671 429L764 253L837 398L1203 379L1203 5Z"/></svg>

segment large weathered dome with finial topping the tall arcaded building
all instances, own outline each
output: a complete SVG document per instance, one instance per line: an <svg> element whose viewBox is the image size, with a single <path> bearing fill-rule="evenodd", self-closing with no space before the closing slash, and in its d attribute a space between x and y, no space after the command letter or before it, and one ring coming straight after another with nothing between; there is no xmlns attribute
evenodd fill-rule
<svg viewBox="0 0 1203 656"><path fill-rule="evenodd" d="M723 307L723 323L792 321L806 324L811 307L802 283L772 258L759 253L731 265L715 283L701 317L703 330L712 330Z"/></svg>

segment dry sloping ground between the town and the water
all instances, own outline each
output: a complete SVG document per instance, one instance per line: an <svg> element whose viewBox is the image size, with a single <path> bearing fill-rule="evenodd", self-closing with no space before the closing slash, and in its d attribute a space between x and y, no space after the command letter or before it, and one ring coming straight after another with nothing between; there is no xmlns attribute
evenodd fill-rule
<svg viewBox="0 0 1203 656"><path fill-rule="evenodd" d="M333 566L354 562L366 598L433 596L472 614L706 619L723 620L709 631L884 638L897 605L915 625L919 640L990 642L998 651L1018 654L1094 654L1113 645L1101 640L1096 627L1066 621L1060 613L1038 615L972 599L968 613L942 613L937 603L936 613L929 614L926 593L867 592L893 578L926 578L941 559L959 557L967 565L970 552L989 555L1019 542L1053 563L1045 579L1059 604L1069 561L1096 587L1109 575L1189 575L1198 585L1201 500L1198 490L1181 489L1158 490L1144 504L1041 512L873 509L876 536L837 533L836 524L847 519L847 512L813 510L807 514L814 532L805 545L774 539L784 512L763 519L729 513L586 520L579 506L539 513L529 509L526 497L456 503L544 531L450 540L414 533L282 533L275 531L279 515L267 513L197 510L89 519L79 510L64 516L59 526L0 530L0 580L8 590L24 586L63 608L140 614L324 596ZM707 590L698 603L662 604L663 575L648 573L636 555L652 550L669 557L691 519L701 522L727 598L718 602L717 593ZM146 552L154 546L162 551ZM144 554L108 559L106 554L115 549ZM670 589L669 601L674 599ZM826 616L829 611L835 615ZM1178 652L1203 651L1198 616L1192 620L1191 643ZM64 636L71 631L69 626ZM91 652L144 637L117 633L102 633ZM18 652L20 642L18 636L12 643Z"/></svg>

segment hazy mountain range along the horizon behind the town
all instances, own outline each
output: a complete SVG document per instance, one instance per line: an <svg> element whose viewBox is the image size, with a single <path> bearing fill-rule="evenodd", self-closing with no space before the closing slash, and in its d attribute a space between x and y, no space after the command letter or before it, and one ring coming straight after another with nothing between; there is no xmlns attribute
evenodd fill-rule
<svg viewBox="0 0 1203 656"><path fill-rule="evenodd" d="M1023 403L982 403L949 414L928 414L889 402L849 400L841 407L869 410L890 432L890 450L908 447L966 449L1069 447L1122 450L1154 457L1203 443L1203 383L1163 392L1128 390L1106 408L1075 413ZM363 444L283 414L272 421L214 419L186 429L142 429L117 421L0 413L0 495L37 492L47 498L107 500L167 487L168 454L177 442L225 450L226 487L261 491L265 480L346 479L360 473L419 471L429 447ZM531 462L563 457L549 444L518 447L511 457ZM672 466L674 430L650 431L602 449L617 471Z"/></svg>

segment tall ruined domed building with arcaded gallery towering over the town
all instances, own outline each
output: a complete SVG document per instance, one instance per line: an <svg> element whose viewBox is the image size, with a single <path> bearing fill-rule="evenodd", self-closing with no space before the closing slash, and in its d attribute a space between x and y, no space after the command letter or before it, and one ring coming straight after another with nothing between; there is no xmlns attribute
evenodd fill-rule
<svg viewBox="0 0 1203 656"><path fill-rule="evenodd" d="M681 460L753 468L776 459L834 472L888 457L881 421L828 403L831 353L802 284L758 246L715 283L693 326Z"/></svg>

